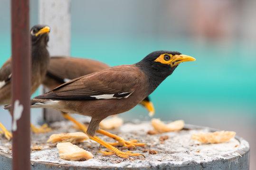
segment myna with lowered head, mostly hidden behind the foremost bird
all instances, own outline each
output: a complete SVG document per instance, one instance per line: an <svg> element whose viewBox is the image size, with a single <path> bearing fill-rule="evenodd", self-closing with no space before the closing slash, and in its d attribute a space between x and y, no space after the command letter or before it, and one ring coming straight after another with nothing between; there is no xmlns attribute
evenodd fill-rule
<svg viewBox="0 0 256 170"><path fill-rule="evenodd" d="M45 80L43 81L43 85L47 87L47 89L53 90L57 86L66 83L71 79L85 76L107 68L110 67L102 62L92 59L53 56L50 58L50 64L45 76ZM142 106L149 111L150 116L154 114L154 106L149 97L146 97L140 104L142 104ZM74 118L67 115L67 113L62 112L62 114L64 118L74 121L76 124L79 123ZM85 125L79 123L78 127L86 132ZM135 146L131 145L131 147Z"/></svg>

